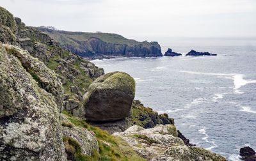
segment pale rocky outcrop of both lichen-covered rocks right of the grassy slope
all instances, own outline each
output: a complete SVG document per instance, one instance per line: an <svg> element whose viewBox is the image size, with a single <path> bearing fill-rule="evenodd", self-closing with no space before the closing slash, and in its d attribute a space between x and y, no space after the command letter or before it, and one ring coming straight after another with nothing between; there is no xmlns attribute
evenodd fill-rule
<svg viewBox="0 0 256 161"><path fill-rule="evenodd" d="M114 133L113 135L124 139L141 157L147 160L226 160L203 148L185 146L182 139L177 137L178 134L174 125L157 125L148 129L133 126L125 132Z"/></svg>

